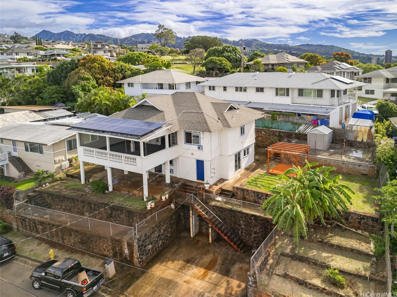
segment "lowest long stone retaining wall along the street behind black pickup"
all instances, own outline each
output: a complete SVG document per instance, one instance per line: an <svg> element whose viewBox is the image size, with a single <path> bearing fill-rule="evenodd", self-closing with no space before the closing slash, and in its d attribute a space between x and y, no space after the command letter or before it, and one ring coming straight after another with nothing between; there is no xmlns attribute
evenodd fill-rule
<svg viewBox="0 0 397 297"><path fill-rule="evenodd" d="M56 240L69 246L77 247L79 249L89 251L90 253L95 253L105 257L114 251L112 257L116 259L123 257L124 259L133 262L133 240L126 239L127 241L124 241L77 227L66 226L60 228L63 225L59 223L48 222L47 220L36 217L24 217L17 215L8 209L0 209L0 218L2 221L11 224L14 227L26 230L27 232L25 233L27 235L32 235L32 233L42 234L45 238L51 238L52 240Z"/></svg>

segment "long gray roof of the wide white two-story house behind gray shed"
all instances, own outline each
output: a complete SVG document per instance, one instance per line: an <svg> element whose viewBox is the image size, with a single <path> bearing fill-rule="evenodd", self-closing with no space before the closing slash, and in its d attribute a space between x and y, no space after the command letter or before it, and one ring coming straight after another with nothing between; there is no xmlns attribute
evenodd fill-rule
<svg viewBox="0 0 397 297"><path fill-rule="evenodd" d="M200 86L230 86L230 87L263 87L263 88L307 88L307 89L347 89L364 86L362 82L349 80L349 83L337 80L338 76L322 72L298 72L295 74L284 72L252 72L233 73L208 82Z"/></svg>

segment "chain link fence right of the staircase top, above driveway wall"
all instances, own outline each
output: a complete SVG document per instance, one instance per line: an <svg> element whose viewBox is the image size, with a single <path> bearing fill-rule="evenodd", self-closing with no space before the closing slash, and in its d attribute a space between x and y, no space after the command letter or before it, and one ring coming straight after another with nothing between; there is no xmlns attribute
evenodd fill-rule
<svg viewBox="0 0 397 297"><path fill-rule="evenodd" d="M222 196L216 196L213 194L204 193L204 203L208 203L214 206L220 206L224 208L234 209L238 211L243 211L246 213L251 213L254 215L262 215L265 216L264 209L260 209L261 205L247 202L243 200L237 200L232 198L225 198Z"/></svg>

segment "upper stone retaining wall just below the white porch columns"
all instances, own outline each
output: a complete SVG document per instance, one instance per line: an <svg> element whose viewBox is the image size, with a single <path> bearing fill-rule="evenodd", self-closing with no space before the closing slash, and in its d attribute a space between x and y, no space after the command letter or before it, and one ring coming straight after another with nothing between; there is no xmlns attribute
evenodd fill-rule
<svg viewBox="0 0 397 297"><path fill-rule="evenodd" d="M90 217L93 219L110 221L119 225L135 227L139 223L151 215L156 207L148 209L132 209L123 206L116 206L98 202L89 198L78 197L74 195L64 194L62 192L49 191L46 189L38 189L42 198L50 204L50 208L67 211L77 215L86 215L93 213ZM34 204L30 202L31 204ZM168 204L167 204L168 203ZM170 204L170 199L164 202L166 206ZM109 206L105 208L106 206Z"/></svg>

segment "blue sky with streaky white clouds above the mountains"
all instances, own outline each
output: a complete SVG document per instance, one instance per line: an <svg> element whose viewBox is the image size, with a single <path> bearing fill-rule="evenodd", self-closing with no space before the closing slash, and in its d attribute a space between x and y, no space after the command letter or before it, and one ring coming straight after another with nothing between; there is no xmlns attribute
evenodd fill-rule
<svg viewBox="0 0 397 297"><path fill-rule="evenodd" d="M363 53L397 54L396 0L0 0L0 32L41 30L125 37L154 32L178 36L253 38L283 44L332 44Z"/></svg>

